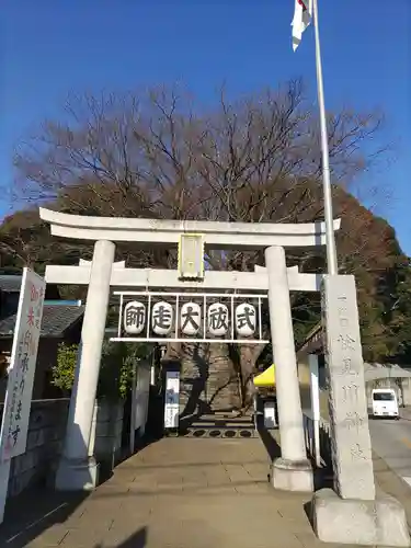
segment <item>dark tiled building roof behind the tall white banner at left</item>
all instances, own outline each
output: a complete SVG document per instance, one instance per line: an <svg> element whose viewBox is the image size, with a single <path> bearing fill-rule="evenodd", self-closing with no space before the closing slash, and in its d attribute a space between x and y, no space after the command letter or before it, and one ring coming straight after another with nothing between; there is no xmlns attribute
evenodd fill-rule
<svg viewBox="0 0 411 548"><path fill-rule="evenodd" d="M45 305L43 309L41 336L58 338L80 321L84 313L83 306L70 305ZM0 338L13 336L16 315L9 316L0 321Z"/></svg>

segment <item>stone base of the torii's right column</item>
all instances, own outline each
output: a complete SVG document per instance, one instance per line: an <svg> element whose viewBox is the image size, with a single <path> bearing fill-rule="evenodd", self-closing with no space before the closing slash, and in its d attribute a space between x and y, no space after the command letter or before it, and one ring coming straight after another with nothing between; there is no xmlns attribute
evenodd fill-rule
<svg viewBox="0 0 411 548"><path fill-rule="evenodd" d="M281 491L299 491L312 493L313 473L308 459L287 460L277 458L271 469L271 482Z"/></svg>

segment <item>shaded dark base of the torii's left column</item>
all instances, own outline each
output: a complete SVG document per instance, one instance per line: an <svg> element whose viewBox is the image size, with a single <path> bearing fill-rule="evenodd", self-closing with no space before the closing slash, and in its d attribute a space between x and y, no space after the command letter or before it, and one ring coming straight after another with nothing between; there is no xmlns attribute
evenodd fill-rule
<svg viewBox="0 0 411 548"><path fill-rule="evenodd" d="M93 457L88 460L61 458L57 468L57 491L92 491L99 484L99 465Z"/></svg>

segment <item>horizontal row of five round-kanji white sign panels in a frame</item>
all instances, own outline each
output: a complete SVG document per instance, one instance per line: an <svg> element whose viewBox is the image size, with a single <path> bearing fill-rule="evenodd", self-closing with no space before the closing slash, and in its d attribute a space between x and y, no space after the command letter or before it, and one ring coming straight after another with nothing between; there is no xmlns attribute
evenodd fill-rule
<svg viewBox="0 0 411 548"><path fill-rule="evenodd" d="M112 340L266 342L262 336L266 295L116 293L118 333Z"/></svg>

